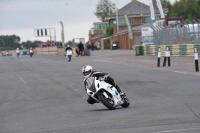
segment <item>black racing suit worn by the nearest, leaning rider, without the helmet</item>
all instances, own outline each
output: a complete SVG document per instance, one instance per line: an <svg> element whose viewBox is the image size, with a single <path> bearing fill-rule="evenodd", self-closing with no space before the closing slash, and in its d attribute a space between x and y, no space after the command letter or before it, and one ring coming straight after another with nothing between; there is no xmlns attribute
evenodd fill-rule
<svg viewBox="0 0 200 133"><path fill-rule="evenodd" d="M114 79L112 77L110 77L110 75L108 73L92 71L92 74L90 77L97 77L97 78L106 77L104 80L105 82L113 85L119 93L122 92L121 89L119 88L119 86L115 83ZM96 101L93 98L91 98L90 96L88 97L87 102L89 104L96 103Z"/></svg>

